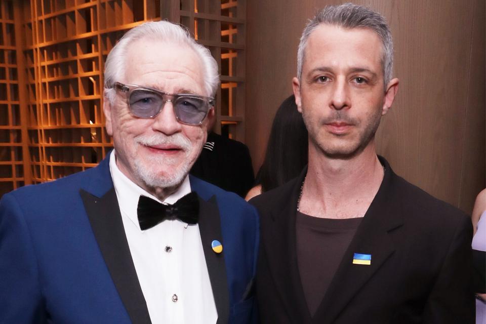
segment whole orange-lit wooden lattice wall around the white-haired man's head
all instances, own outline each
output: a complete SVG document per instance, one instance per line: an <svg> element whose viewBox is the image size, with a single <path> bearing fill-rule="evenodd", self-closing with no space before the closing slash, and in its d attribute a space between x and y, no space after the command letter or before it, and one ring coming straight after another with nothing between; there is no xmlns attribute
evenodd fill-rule
<svg viewBox="0 0 486 324"><path fill-rule="evenodd" d="M103 66L145 21L187 26L222 79L216 131L244 140L244 0L1 0L0 194L96 166L104 130Z"/></svg>

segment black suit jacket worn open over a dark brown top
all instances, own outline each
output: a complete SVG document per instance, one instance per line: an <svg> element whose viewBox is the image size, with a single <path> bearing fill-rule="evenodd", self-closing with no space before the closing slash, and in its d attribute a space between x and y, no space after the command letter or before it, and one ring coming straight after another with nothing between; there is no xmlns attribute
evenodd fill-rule
<svg viewBox="0 0 486 324"><path fill-rule="evenodd" d="M257 299L263 323L474 322L470 219L380 160L380 189L313 318L296 253L297 198L306 170L250 201L261 217ZM353 264L354 253L371 254L371 265Z"/></svg>

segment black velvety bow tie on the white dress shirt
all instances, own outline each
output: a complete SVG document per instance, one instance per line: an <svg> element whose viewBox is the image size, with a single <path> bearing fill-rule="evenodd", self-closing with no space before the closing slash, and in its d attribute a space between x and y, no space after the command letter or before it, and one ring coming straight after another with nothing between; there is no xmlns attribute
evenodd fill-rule
<svg viewBox="0 0 486 324"><path fill-rule="evenodd" d="M140 196L137 207L140 229L154 227L166 219L178 218L187 224L197 224L199 218L199 200L192 191L176 201L174 205L160 204L152 198Z"/></svg>

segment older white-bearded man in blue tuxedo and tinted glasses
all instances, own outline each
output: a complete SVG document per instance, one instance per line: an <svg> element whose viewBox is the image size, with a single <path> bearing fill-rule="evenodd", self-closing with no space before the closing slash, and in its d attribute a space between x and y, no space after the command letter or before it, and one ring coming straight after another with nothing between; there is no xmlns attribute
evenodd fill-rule
<svg viewBox="0 0 486 324"><path fill-rule="evenodd" d="M178 25L120 39L105 65L109 157L0 202L0 322L254 322L256 211L188 176L218 84Z"/></svg>

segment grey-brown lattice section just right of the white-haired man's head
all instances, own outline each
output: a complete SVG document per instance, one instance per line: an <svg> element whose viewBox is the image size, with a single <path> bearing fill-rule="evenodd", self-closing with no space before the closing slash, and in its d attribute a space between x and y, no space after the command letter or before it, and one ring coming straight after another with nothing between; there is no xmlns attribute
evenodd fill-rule
<svg viewBox="0 0 486 324"><path fill-rule="evenodd" d="M216 132L244 142L246 0L169 0L161 9L211 50L221 74Z"/></svg>

